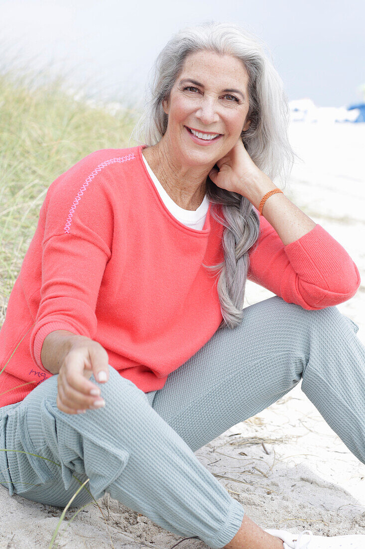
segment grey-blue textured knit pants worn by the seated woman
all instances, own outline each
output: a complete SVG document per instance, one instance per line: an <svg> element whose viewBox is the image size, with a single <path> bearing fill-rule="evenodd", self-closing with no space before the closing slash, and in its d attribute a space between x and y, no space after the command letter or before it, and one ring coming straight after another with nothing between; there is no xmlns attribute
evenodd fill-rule
<svg viewBox="0 0 365 549"><path fill-rule="evenodd" d="M365 347L357 330L337 307L307 311L273 296L246 307L233 330L217 330L158 391L145 394L111 365L109 381L98 384L105 407L67 414L56 406L52 376L0 408L0 449L7 449L0 483L10 494L62 507L80 486L73 475L89 478L96 499L109 492L174 534L223 547L244 507L193 452L301 378L307 397L365 463ZM89 501L82 489L72 505Z"/></svg>

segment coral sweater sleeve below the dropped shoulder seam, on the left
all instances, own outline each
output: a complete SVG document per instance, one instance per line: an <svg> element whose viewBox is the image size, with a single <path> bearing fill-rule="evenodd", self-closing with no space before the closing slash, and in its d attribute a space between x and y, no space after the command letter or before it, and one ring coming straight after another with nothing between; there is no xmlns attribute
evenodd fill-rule
<svg viewBox="0 0 365 549"><path fill-rule="evenodd" d="M47 367L41 360L42 346L51 332L66 330L94 339L96 301L108 257L98 244L77 234L55 235L44 242L41 301L30 338L33 360L43 371Z"/></svg>

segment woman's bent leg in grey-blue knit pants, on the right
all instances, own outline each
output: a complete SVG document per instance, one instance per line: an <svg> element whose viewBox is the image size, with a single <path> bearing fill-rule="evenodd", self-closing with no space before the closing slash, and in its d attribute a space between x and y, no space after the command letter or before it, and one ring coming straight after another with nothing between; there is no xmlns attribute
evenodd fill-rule
<svg viewBox="0 0 365 549"><path fill-rule="evenodd" d="M278 296L218 330L156 392L153 409L193 451L302 389L351 452L365 462L365 348L337 307L307 311Z"/></svg>

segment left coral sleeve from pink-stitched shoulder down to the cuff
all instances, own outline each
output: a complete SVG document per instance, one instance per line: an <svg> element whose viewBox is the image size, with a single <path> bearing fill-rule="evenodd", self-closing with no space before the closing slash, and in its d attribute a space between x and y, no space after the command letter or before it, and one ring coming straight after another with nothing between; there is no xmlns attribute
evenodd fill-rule
<svg viewBox="0 0 365 549"><path fill-rule="evenodd" d="M91 339L96 333L96 300L111 257L113 216L104 175L90 178L94 163L89 155L62 174L42 206L41 301L30 351L47 373L41 350L50 332L68 330Z"/></svg>

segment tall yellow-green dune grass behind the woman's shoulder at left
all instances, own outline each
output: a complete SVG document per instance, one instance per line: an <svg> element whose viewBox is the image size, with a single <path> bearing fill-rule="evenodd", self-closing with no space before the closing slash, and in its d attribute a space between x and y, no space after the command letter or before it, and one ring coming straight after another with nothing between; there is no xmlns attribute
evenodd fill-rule
<svg viewBox="0 0 365 549"><path fill-rule="evenodd" d="M1 71L0 326L49 185L95 150L128 147L138 111L79 96L62 77Z"/></svg>

